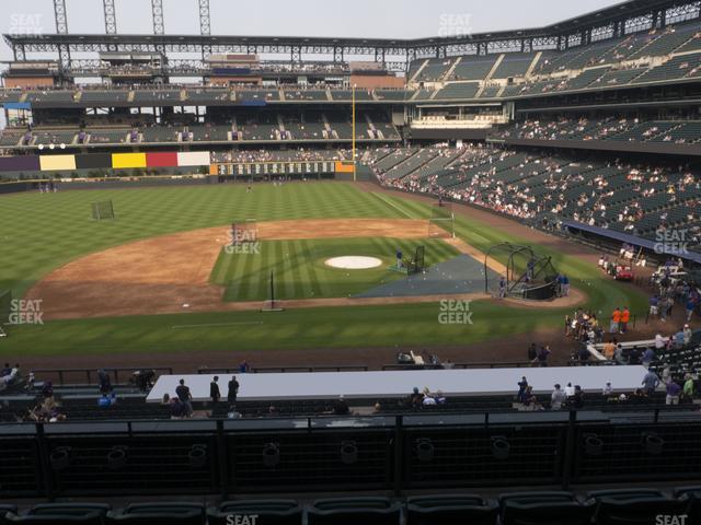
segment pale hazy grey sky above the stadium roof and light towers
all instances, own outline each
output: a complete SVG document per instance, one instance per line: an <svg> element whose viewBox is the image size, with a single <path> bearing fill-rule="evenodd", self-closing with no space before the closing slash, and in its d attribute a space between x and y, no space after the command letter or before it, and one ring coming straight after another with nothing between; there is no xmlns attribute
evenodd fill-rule
<svg viewBox="0 0 701 525"><path fill-rule="evenodd" d="M210 0L211 34L421 38L539 27L621 0ZM70 33L105 32L102 0L66 0ZM197 0L163 0L165 33L198 34ZM150 0L115 0L117 33L151 33ZM0 31L55 33L51 0L0 0ZM0 44L0 60L12 58ZM30 55L27 58L44 58Z"/></svg>

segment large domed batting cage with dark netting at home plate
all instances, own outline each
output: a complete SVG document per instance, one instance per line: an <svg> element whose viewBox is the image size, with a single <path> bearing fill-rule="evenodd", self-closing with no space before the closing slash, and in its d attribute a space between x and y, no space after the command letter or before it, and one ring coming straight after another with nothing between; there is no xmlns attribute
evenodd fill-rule
<svg viewBox="0 0 701 525"><path fill-rule="evenodd" d="M495 271L495 266L503 271ZM551 257L537 255L530 246L497 244L484 257L484 291L493 296L545 301L558 294L558 271Z"/></svg>

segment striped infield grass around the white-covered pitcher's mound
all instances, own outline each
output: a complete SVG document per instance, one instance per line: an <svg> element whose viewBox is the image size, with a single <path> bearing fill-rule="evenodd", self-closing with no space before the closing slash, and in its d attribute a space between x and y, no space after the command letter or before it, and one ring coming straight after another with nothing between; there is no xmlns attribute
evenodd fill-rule
<svg viewBox="0 0 701 525"><path fill-rule="evenodd" d="M277 299L345 298L405 277L388 267L397 264L401 249L405 257L425 246L426 265L432 266L458 255L440 240L397 238L315 238L264 241L260 253L232 254L221 250L211 272L211 282L226 287L225 301L264 301L269 299L269 276L275 276ZM324 264L332 257L358 255L377 257L382 266L367 270L341 270Z"/></svg>

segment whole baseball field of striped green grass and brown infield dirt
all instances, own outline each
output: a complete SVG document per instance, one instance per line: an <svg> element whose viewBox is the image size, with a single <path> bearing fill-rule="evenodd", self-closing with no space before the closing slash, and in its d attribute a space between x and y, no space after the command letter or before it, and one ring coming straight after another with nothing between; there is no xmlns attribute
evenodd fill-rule
<svg viewBox="0 0 701 525"><path fill-rule="evenodd" d="M91 218L101 200L113 201L115 220ZM428 238L430 213L427 202L334 182L2 196L0 291L38 301L42 323L7 326L0 354L66 357L70 366L71 357L93 354L423 349L554 330L577 302L605 317L621 305L644 315L644 295L607 279L584 248L470 213L456 213L456 240ZM251 219L260 253L222 249L231 223ZM445 324L438 295L355 299L401 285L406 276L390 269L398 249L423 245L426 265L437 267L502 242L552 256L576 301L533 307L475 295L471 324ZM325 265L344 255L381 266ZM260 312L271 272L283 313Z"/></svg>

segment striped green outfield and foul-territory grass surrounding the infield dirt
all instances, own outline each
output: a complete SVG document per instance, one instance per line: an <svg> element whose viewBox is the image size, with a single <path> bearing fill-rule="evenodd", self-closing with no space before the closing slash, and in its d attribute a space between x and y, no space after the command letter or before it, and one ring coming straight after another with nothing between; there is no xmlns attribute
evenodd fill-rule
<svg viewBox="0 0 701 525"><path fill-rule="evenodd" d="M117 220L91 220L90 202L105 199L114 201ZM89 253L154 235L225 225L233 220L425 219L429 214L428 206L364 192L345 183L256 185L252 194L245 192L245 186L217 185L3 196L0 290L11 289L15 296L21 296L41 277ZM460 217L456 220L456 233L483 252L505 241L532 244ZM535 248L551 255L555 267L568 273L573 285L588 294L588 306L605 318L612 308L624 305L634 314L644 315L646 298L630 284L614 282L594 265L548 245ZM566 313L490 303L475 303L472 308L474 324L470 326L441 325L438 304L298 310L273 316L211 313L47 322L43 326L10 327L10 337L0 339L0 354L20 358L273 348L415 348L478 342L559 327ZM489 360L489 353L483 358Z"/></svg>

